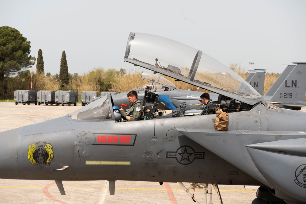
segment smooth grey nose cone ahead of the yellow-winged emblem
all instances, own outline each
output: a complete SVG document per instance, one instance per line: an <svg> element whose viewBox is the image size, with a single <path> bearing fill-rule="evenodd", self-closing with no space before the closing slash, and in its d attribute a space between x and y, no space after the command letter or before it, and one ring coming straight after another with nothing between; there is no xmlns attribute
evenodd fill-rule
<svg viewBox="0 0 306 204"><path fill-rule="evenodd" d="M18 143L21 128L0 133L0 178L19 179Z"/></svg>

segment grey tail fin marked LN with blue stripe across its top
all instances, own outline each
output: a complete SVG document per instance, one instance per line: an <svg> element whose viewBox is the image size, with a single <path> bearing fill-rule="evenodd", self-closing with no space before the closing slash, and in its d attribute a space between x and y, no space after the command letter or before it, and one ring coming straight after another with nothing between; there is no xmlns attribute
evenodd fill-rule
<svg viewBox="0 0 306 204"><path fill-rule="evenodd" d="M265 85L265 69L255 69L245 79L260 95L263 95L263 87Z"/></svg>

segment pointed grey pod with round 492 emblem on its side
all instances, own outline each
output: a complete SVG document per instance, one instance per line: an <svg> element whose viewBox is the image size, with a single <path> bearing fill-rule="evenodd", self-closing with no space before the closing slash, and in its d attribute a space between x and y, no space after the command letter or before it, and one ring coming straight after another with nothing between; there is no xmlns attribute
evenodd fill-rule
<svg viewBox="0 0 306 204"><path fill-rule="evenodd" d="M305 133L304 133L305 134ZM305 138L247 145L252 160L262 175L291 198L306 200Z"/></svg>

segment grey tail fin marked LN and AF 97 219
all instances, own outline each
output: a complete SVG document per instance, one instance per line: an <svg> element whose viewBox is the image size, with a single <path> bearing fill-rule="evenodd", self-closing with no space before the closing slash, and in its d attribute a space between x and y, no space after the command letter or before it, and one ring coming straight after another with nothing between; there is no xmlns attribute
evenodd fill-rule
<svg viewBox="0 0 306 204"><path fill-rule="evenodd" d="M297 64L271 97L276 102L304 102L306 92L306 62Z"/></svg>

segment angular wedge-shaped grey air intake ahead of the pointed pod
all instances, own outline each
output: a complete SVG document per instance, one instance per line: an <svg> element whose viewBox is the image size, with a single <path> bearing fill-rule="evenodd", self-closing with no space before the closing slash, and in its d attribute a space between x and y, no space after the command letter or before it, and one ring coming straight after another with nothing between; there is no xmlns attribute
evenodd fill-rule
<svg viewBox="0 0 306 204"><path fill-rule="evenodd" d="M214 129L203 130L184 128L177 128L177 130L217 156L220 156L222 159L264 183L265 179L248 156L245 146L252 144L254 140L274 141L275 134L269 132L264 134L264 131L242 130L217 131ZM248 140L245 139L246 135L249 138Z"/></svg>

